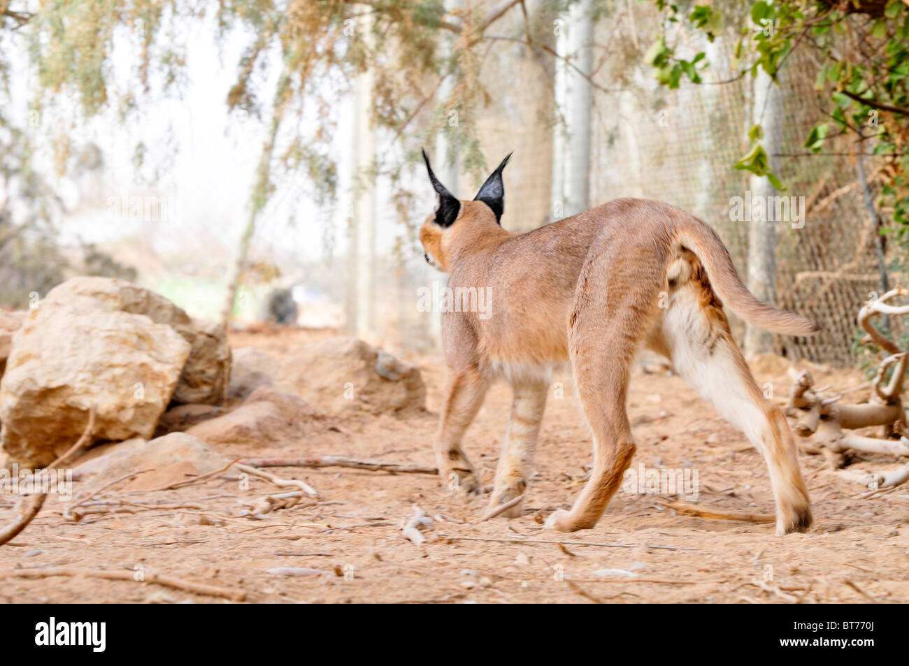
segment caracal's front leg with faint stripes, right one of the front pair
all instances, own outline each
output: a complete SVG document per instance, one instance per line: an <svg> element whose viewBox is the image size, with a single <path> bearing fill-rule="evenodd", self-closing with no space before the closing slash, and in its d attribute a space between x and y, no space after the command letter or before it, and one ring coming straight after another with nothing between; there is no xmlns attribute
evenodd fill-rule
<svg viewBox="0 0 909 666"><path fill-rule="evenodd" d="M508 431L505 432L499 463L495 468L495 485L489 508L510 502L524 494L534 471L534 453L540 434L540 423L546 406L548 385L543 382L515 383ZM524 502L515 504L502 515L519 518Z"/></svg>

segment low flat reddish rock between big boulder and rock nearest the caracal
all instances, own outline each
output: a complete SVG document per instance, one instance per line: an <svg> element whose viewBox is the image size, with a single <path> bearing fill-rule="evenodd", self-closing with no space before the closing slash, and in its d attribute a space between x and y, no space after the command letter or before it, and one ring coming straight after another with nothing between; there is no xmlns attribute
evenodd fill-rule
<svg viewBox="0 0 909 666"><path fill-rule="evenodd" d="M329 427L325 416L295 395L260 386L233 412L197 423L186 434L213 445L245 449L299 447L305 435L314 430L314 423L320 430Z"/></svg>

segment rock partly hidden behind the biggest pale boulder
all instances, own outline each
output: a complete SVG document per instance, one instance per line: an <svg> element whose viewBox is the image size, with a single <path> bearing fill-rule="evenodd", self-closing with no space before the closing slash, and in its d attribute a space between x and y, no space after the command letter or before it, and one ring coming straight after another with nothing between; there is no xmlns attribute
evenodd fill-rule
<svg viewBox="0 0 909 666"><path fill-rule="evenodd" d="M231 353L224 329L215 323L190 319L164 296L124 280L81 276L59 284L45 296L41 308L90 298L95 309L144 314L163 323L190 344L190 353L173 400L175 403L220 403L230 382Z"/></svg>

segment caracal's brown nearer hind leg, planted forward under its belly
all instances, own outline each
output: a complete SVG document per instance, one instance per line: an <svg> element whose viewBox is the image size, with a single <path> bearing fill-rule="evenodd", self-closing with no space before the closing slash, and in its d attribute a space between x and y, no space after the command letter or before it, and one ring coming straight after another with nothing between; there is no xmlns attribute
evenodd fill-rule
<svg viewBox="0 0 909 666"><path fill-rule="evenodd" d="M579 280L588 283L584 272ZM594 527L622 484L634 457L625 396L639 341L654 318L656 293L619 289L604 278L582 287L569 318L568 350L584 417L594 438L594 469L571 511L552 513L546 527L574 532Z"/></svg>

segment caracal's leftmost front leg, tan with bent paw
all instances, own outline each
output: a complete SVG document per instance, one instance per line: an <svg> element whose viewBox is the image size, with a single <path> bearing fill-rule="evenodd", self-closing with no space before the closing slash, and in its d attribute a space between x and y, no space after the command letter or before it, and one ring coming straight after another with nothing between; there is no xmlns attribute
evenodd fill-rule
<svg viewBox="0 0 909 666"><path fill-rule="evenodd" d="M461 440L480 411L488 388L489 380L473 368L452 372L435 435L439 478L450 489L466 494L483 492L474 465L461 448Z"/></svg>

